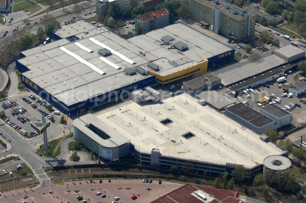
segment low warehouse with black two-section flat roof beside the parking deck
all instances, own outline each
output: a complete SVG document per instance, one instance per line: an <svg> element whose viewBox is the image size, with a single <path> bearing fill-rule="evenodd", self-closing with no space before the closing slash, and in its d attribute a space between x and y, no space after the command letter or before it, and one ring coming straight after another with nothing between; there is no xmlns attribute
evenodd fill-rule
<svg viewBox="0 0 306 203"><path fill-rule="evenodd" d="M227 107L225 114L259 135L264 134L269 129L275 130L278 126L274 120L243 103Z"/></svg>

